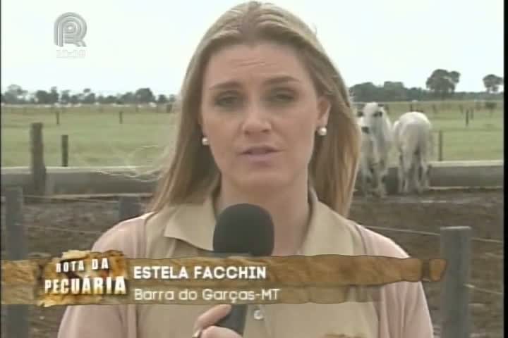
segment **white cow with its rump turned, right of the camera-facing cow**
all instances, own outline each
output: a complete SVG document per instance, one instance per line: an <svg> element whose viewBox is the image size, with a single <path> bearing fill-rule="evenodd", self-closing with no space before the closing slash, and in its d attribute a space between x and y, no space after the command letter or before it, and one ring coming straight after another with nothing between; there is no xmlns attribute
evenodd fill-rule
<svg viewBox="0 0 508 338"><path fill-rule="evenodd" d="M401 115L393 126L394 144L399 152L399 192L407 194L412 182L416 192L428 189L429 157L433 154L432 124L418 111Z"/></svg>

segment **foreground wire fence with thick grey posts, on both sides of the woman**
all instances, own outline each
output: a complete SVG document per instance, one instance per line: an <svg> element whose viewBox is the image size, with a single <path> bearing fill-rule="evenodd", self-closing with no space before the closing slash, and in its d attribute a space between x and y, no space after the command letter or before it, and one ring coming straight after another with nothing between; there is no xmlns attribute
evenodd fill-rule
<svg viewBox="0 0 508 338"><path fill-rule="evenodd" d="M143 194L145 195L145 194ZM6 234L6 258L20 260L34 258L28 253L25 230L49 230L73 234L90 234L98 238L104 230L81 230L64 227L25 224L23 220L23 201L62 201L87 202L90 204L109 204L117 206L117 220L127 220L143 213L143 204L140 196L120 196L117 201L88 198L58 198L52 196L23 195L20 187L8 188L4 192L5 226L2 231ZM492 296L504 296L504 292L478 287L471 283L471 242L501 246L504 241L499 239L471 237L471 227L442 227L441 232L426 232L395 227L367 226L372 230L385 232L399 232L419 236L440 238L441 258L447 261L447 268L441 280L440 289L440 323L435 326L435 334L441 338L471 337L470 299L471 292L481 292ZM41 253L35 253L35 255ZM43 253L44 254L44 253ZM49 255L48 255L49 256ZM490 258L503 259L502 255L485 253ZM37 258L37 257L35 257ZM30 337L28 323L28 306L11 305L6 308L7 337Z"/></svg>

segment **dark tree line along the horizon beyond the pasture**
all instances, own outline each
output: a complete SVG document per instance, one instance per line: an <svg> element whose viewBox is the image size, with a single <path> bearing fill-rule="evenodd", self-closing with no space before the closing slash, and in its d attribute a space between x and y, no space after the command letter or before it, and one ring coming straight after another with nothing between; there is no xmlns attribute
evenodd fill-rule
<svg viewBox="0 0 508 338"><path fill-rule="evenodd" d="M483 77L485 92L455 92L456 85L460 82L461 74L456 70L436 69L425 82L425 88L404 87L403 82L386 81L382 85L373 82L363 82L350 87L354 101L431 101L444 99L471 100L471 99L494 99L502 94L500 86L504 85L504 79L494 74ZM155 97L150 88L140 88L135 92L126 92L117 95L101 95L85 88L83 92L73 93L69 90L59 92L57 87L51 87L49 91L37 90L29 93L18 84L8 86L6 92L1 94L1 102L5 104L172 104L176 95L168 96L160 94Z"/></svg>

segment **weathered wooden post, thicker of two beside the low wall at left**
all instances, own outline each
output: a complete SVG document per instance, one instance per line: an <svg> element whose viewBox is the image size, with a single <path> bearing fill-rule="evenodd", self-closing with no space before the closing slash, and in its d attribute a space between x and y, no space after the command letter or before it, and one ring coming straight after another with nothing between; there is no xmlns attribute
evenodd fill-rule
<svg viewBox="0 0 508 338"><path fill-rule="evenodd" d="M30 126L30 172L34 194L44 195L46 192L46 165L44 164L44 144L42 142L42 123Z"/></svg>

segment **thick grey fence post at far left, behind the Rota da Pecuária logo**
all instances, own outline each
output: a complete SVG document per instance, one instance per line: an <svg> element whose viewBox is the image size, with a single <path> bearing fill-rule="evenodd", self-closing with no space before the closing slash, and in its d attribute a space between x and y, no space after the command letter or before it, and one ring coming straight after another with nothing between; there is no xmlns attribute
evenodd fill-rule
<svg viewBox="0 0 508 338"><path fill-rule="evenodd" d="M6 189L5 201L7 259L18 261L27 256L23 229L23 190L20 187ZM28 306L8 305L5 325L6 337L28 338Z"/></svg>

